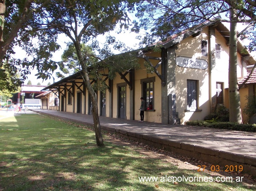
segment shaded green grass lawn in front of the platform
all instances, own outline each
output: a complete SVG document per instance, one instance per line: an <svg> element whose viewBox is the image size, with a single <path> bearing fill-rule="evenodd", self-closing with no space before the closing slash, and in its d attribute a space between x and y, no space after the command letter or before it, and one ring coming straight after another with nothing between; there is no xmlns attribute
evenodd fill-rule
<svg viewBox="0 0 256 191"><path fill-rule="evenodd" d="M85 126L38 114L2 119L0 191L256 190L237 182L168 182L162 177L216 177L180 169L167 160L143 154L139 148L109 139L104 135L106 146L97 147L94 132ZM158 181L140 182L139 177L148 176L158 177Z"/></svg>

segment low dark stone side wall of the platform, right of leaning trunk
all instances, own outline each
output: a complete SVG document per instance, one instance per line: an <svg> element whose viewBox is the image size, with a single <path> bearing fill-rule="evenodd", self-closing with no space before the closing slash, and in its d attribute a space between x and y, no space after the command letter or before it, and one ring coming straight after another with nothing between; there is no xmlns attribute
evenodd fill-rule
<svg viewBox="0 0 256 191"><path fill-rule="evenodd" d="M150 146L158 147L164 150L173 151L182 155L190 156L198 160L219 165L220 171L225 171L229 167L240 165L243 166L243 172L256 176L256 157L235 154L223 150L207 148L194 143L188 144L183 142L172 141L166 138L160 138L154 134L143 134L138 132L126 131L119 128L101 126L103 130L109 133L116 133L124 138L142 142ZM204 165L204 164L199 164ZM233 168L232 167L232 168ZM207 168L211 169L211 166Z"/></svg>

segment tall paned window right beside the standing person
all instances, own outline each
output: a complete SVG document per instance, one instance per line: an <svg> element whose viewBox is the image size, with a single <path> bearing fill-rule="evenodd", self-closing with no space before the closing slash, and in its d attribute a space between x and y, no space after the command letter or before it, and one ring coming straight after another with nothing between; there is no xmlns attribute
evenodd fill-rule
<svg viewBox="0 0 256 191"><path fill-rule="evenodd" d="M142 97L146 101L146 110L154 110L154 82L155 77L141 80Z"/></svg>

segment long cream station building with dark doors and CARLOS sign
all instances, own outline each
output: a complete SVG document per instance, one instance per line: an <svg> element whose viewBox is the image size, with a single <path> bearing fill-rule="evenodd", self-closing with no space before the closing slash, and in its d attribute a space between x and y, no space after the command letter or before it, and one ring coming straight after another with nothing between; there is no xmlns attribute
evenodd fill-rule
<svg viewBox="0 0 256 191"><path fill-rule="evenodd" d="M147 103L144 121L157 123L203 120L217 104L229 107L229 29L223 23L205 23L171 37L162 47L161 52L139 50L140 69L118 73L114 80L108 79L108 69L99 71L108 87L96 92L99 115L140 120L140 97ZM242 49L238 41L238 78L245 77L247 66L255 64ZM153 73L147 73L145 62L153 66ZM92 114L81 71L43 90L57 91L59 111Z"/></svg>

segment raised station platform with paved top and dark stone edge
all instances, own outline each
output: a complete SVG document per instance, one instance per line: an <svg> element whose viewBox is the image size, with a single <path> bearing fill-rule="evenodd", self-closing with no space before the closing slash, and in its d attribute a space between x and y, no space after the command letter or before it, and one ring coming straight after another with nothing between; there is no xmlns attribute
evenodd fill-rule
<svg viewBox="0 0 256 191"><path fill-rule="evenodd" d="M92 115L35 109L35 112L93 126ZM243 165L256 175L256 133L138 122L100 116L101 127L126 138L195 157L213 165Z"/></svg>

